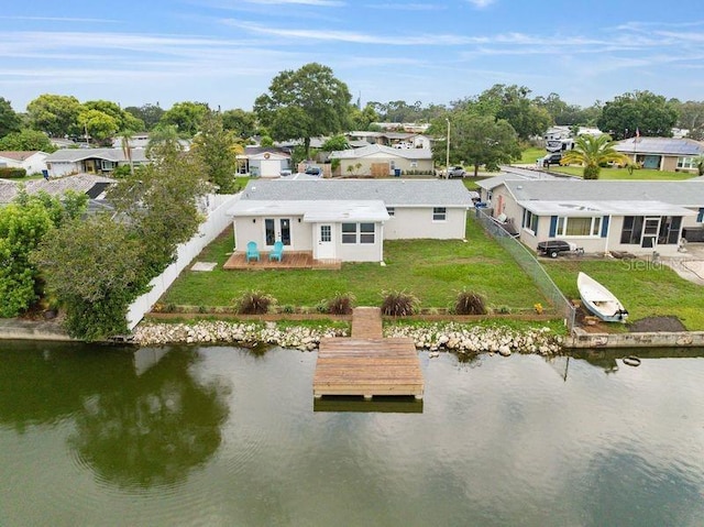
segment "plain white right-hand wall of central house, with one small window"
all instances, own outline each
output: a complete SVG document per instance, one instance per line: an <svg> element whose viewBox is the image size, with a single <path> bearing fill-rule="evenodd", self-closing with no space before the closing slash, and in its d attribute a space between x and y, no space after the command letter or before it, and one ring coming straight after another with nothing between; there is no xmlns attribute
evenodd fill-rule
<svg viewBox="0 0 704 527"><path fill-rule="evenodd" d="M433 221L432 207L395 207L394 216L384 224L384 239L464 239L466 233L466 209L448 207L446 210L446 221Z"/></svg>

